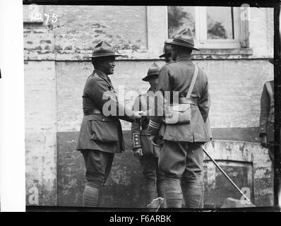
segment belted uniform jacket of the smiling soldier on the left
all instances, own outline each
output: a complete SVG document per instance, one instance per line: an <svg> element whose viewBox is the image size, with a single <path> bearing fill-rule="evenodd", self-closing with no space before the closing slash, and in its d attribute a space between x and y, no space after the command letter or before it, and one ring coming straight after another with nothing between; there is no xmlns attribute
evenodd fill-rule
<svg viewBox="0 0 281 226"><path fill-rule="evenodd" d="M104 114L103 108L111 110L112 115ZM100 113L92 112L94 109ZM133 112L119 104L110 79L102 71L94 70L85 83L83 112L77 150L101 150L108 153L125 150L119 119L132 122Z"/></svg>

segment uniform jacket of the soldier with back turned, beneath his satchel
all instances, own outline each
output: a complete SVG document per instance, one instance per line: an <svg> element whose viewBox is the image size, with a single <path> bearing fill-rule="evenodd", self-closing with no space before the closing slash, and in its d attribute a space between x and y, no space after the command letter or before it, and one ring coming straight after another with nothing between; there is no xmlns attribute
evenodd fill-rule
<svg viewBox="0 0 281 226"><path fill-rule="evenodd" d="M195 65L188 56L178 58L177 61L166 64L160 70L157 90L178 91L179 97L186 97L193 77ZM159 135L167 141L207 142L210 134L205 126L210 109L210 97L208 93L208 78L202 69L198 69L198 76L191 93L191 99L197 100L198 105L191 105L190 124L163 124L163 116L150 117L148 131L153 135ZM171 97L172 100L172 97ZM161 102L161 101L160 101ZM159 103L159 102L158 102ZM157 106L155 101L155 112L163 112L163 105ZM157 109L157 107L159 109ZM162 113L163 115L164 113Z"/></svg>

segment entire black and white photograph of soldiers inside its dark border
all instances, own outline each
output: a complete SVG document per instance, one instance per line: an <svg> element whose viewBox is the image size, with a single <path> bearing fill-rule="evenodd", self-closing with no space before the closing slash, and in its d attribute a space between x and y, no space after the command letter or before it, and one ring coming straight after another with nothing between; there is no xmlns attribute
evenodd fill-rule
<svg viewBox="0 0 281 226"><path fill-rule="evenodd" d="M186 4L23 1L26 210L280 206L276 10Z"/></svg>

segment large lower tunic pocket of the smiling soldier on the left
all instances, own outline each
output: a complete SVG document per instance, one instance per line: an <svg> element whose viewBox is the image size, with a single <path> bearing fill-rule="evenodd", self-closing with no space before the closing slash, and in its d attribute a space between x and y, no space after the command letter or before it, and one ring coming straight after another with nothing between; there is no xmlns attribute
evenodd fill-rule
<svg viewBox="0 0 281 226"><path fill-rule="evenodd" d="M118 125L116 121L107 121L105 119L92 119L92 141L100 142L118 142Z"/></svg>

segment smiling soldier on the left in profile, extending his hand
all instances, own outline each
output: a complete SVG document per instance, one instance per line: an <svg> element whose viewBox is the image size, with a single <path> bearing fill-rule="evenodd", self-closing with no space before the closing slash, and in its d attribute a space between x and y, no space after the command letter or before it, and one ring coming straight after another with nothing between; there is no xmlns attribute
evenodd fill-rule
<svg viewBox="0 0 281 226"><path fill-rule="evenodd" d="M114 73L115 57L119 56L107 42L98 43L91 57L95 69L83 90L84 117L77 145L85 160L88 181L83 191L83 206L97 206L100 187L107 180L114 153L124 151L119 119L130 122L140 119L141 112L126 109L118 102L108 76Z"/></svg>

